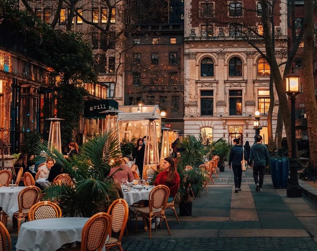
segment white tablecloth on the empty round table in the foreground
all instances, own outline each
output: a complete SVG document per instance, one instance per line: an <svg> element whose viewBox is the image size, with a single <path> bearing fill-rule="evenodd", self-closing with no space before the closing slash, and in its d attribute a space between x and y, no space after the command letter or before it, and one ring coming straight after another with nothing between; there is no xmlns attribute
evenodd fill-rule
<svg viewBox="0 0 317 251"><path fill-rule="evenodd" d="M25 222L21 225L16 249L55 251L66 243L80 242L88 219L70 217Z"/></svg>

